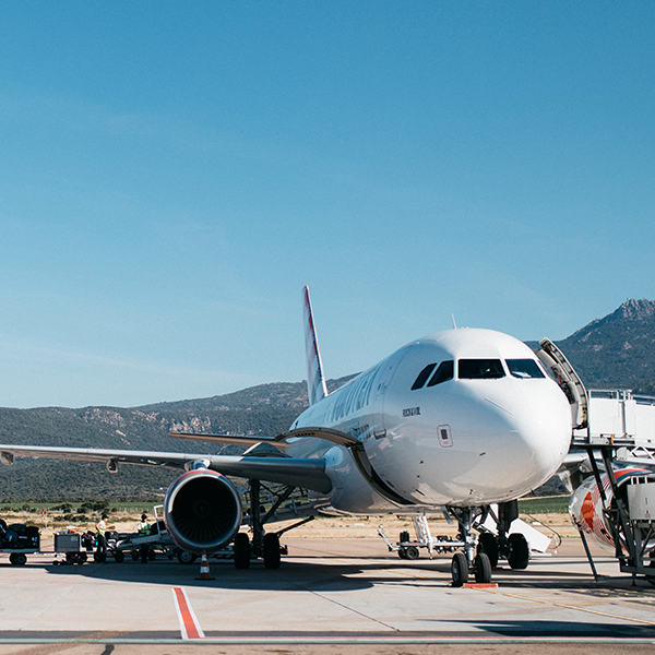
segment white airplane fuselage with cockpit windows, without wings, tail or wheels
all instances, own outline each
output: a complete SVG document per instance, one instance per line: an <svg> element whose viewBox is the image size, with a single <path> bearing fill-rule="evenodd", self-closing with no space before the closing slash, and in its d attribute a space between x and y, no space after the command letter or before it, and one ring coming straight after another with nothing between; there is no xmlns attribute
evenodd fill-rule
<svg viewBox="0 0 655 655"><path fill-rule="evenodd" d="M362 444L357 463L326 441L288 442L293 456L325 458L332 509L398 513L504 502L538 487L569 451L571 409L525 344L460 329L404 346L291 428L318 426Z"/></svg>

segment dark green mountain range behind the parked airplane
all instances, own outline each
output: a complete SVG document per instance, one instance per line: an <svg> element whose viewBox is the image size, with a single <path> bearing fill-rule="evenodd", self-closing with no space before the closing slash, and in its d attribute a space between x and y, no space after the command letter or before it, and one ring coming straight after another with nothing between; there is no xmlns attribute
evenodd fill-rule
<svg viewBox="0 0 655 655"><path fill-rule="evenodd" d="M655 395L655 302L627 300L612 313L557 343L587 388L632 389ZM349 378L330 380L329 390ZM236 454L240 452L237 446L175 440L167 434L277 434L288 429L306 406L305 382L278 382L209 398L130 408L0 408L0 442ZM177 475L129 465L110 475L100 464L21 457L13 466L0 466L0 502L154 498Z"/></svg>

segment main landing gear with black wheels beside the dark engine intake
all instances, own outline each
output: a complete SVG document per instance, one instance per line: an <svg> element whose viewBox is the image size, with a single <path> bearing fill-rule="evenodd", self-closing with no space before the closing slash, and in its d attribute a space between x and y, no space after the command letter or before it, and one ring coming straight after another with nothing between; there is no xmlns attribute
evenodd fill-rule
<svg viewBox="0 0 655 655"><path fill-rule="evenodd" d="M279 537L285 532L313 519L313 516L309 516L286 527L284 531L266 533L264 524L273 517L279 505L289 498L295 487L285 487L281 493L274 493L276 497L275 502L273 502L271 509L263 516L260 497L261 487L260 480L249 480L252 540L250 540L247 533L237 533L235 536L234 560L237 569L248 569L253 558L261 558L266 569L279 569L282 556L288 552L286 546L279 545ZM269 489L269 491L271 490Z"/></svg>

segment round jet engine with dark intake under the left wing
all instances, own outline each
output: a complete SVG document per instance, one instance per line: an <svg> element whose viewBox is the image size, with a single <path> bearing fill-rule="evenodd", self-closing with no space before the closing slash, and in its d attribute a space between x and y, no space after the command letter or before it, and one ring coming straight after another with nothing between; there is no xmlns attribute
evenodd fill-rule
<svg viewBox="0 0 655 655"><path fill-rule="evenodd" d="M181 475L164 499L168 534L180 548L198 555L228 544L241 517L239 492L224 475L207 468Z"/></svg>

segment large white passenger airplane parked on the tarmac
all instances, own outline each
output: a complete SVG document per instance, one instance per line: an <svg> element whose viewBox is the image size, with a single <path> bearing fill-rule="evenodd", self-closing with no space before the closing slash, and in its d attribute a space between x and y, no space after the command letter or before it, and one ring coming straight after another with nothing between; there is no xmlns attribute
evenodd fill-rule
<svg viewBox="0 0 655 655"><path fill-rule="evenodd" d="M484 329L437 332L413 341L327 393L309 288L303 288L309 407L289 430L271 438L171 433L249 446L240 456L128 450L0 445L15 455L183 468L168 488L164 521L179 548L212 553L234 543L235 565L261 555L279 565L279 536L263 524L296 488L323 512L417 516L445 513L457 521L454 586L469 574L491 580L498 557L525 569L528 546L509 534L516 499L550 478L572 434L570 400L533 350ZM239 532L241 498L226 476L250 480L252 540ZM286 490L262 516L260 481ZM498 505L498 534L476 527Z"/></svg>

